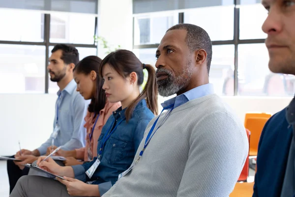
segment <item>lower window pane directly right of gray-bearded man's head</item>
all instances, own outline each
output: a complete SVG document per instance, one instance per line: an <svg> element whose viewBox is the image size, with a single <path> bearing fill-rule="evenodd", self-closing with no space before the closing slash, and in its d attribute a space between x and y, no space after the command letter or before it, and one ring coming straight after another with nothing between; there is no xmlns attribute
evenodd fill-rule
<svg viewBox="0 0 295 197"><path fill-rule="evenodd" d="M234 95L235 45L213 45L209 82L218 95Z"/></svg>

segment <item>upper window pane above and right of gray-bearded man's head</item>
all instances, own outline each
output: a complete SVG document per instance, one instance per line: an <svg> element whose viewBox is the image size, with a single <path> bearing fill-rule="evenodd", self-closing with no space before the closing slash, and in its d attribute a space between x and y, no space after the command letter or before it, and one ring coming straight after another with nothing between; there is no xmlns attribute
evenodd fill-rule
<svg viewBox="0 0 295 197"><path fill-rule="evenodd" d="M184 23L200 26L207 31L212 41L232 40L234 6L202 7L185 11Z"/></svg>

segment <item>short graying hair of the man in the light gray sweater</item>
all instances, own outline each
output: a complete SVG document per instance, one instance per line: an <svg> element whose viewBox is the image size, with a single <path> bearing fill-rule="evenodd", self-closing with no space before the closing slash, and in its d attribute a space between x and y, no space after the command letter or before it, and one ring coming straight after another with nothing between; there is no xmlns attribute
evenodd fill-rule
<svg viewBox="0 0 295 197"><path fill-rule="evenodd" d="M170 28L171 30L186 30L186 44L191 52L204 49L207 53L207 71L209 74L212 60L212 42L208 33L201 27L192 24L178 24Z"/></svg>

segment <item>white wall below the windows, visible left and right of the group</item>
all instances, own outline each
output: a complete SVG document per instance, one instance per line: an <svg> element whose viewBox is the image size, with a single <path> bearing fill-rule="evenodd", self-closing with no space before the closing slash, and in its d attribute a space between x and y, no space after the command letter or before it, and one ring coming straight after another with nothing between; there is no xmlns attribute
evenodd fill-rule
<svg viewBox="0 0 295 197"><path fill-rule="evenodd" d="M56 95L0 95L0 155L12 155L18 148L33 150L53 130ZM243 122L247 112L274 114L292 98L223 97ZM161 100L162 101L162 100Z"/></svg>

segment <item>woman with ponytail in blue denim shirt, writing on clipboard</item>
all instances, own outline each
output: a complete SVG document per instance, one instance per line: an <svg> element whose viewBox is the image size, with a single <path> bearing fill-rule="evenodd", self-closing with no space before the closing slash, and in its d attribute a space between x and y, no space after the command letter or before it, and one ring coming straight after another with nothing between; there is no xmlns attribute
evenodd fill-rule
<svg viewBox="0 0 295 197"><path fill-rule="evenodd" d="M140 93L143 69L148 70L148 81ZM10 197L100 197L131 165L148 122L157 114L155 70L142 64L131 51L118 50L102 61L100 75L108 100L120 101L122 106L113 112L101 131L97 145L99 162L94 158L82 165L59 166L51 158L41 162L45 157L40 157L40 167L66 180L58 178L60 184L45 177L24 176Z"/></svg>

